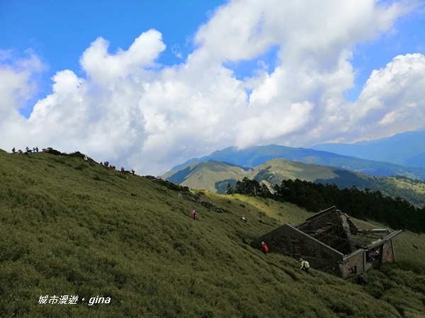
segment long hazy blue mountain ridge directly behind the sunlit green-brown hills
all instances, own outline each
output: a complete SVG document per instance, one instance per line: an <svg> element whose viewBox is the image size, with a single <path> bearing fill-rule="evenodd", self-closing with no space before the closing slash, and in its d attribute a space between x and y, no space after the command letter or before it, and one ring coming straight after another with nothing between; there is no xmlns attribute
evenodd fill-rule
<svg viewBox="0 0 425 318"><path fill-rule="evenodd" d="M314 165L326 165L331 167L341 167L346 170L362 172L366 175L380 175L383 177L389 175L402 175L412 179L425 180L424 167L404 167L393 163L384 163L373 160L364 160L346 155L337 155L327 151L316 151L305 148L290 148L285 146L253 146L244 150L238 150L234 147L226 148L222 151L215 151L200 159L191 159L188 162L174 167L171 171L180 170L186 167L188 163L205 162L208 160L219 160L225 163L239 165L242 167L255 167L261 165L267 160L274 158L284 158L290 161L299 161L302 163L312 163Z"/></svg>

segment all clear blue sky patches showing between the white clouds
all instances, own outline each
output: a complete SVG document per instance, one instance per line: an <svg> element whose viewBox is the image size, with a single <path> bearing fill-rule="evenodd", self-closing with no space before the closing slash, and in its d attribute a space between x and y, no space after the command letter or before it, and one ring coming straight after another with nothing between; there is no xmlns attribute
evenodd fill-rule
<svg viewBox="0 0 425 318"><path fill-rule="evenodd" d="M63 69L81 75L79 57L97 37L106 38L110 52L126 48L144 30L159 30L167 49L159 61L172 65L181 63L172 50L186 57L193 50L191 39L198 27L205 23L223 0L159 0L159 1L3 1L0 11L0 43L3 49L23 54L32 49L47 70L42 74L40 91L27 107L21 110L26 117L33 103L50 93L50 78ZM394 34L378 41L358 44L353 51L353 66L357 69L356 88L346 92L356 99L373 69L380 69L398 54L425 54L425 18L416 12L396 23ZM251 76L257 61L266 60L271 68L276 65L276 47L271 47L256 59L228 63L237 78Z"/></svg>

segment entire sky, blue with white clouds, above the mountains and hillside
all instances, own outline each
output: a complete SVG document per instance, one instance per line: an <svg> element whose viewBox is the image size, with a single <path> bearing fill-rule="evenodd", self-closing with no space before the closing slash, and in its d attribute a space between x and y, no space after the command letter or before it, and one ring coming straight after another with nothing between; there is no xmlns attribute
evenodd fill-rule
<svg viewBox="0 0 425 318"><path fill-rule="evenodd" d="M0 148L162 173L424 126L423 1L1 1L0 30Z"/></svg>

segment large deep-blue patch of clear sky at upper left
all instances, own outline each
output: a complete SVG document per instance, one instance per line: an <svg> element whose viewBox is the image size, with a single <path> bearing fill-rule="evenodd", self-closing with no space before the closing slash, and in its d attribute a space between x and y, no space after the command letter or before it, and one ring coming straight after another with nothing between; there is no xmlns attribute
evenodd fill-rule
<svg viewBox="0 0 425 318"><path fill-rule="evenodd" d="M162 32L169 45L160 57L164 64L179 64L181 59L171 48L187 55L191 37L208 19L211 11L225 1L155 0L155 1L1 1L1 49L24 54L32 49L45 62L40 92L21 112L28 117L33 103L51 92L50 78L60 70L71 69L81 74L79 57L84 49L104 37L110 52L131 45L137 36L151 28Z"/></svg>

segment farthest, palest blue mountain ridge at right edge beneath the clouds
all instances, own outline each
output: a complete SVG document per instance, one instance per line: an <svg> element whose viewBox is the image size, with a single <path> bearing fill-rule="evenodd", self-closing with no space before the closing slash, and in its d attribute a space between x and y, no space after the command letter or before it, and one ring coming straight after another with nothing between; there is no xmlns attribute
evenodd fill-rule
<svg viewBox="0 0 425 318"><path fill-rule="evenodd" d="M402 134L374 141L322 143L313 146L312 149L398 165L425 167L424 140L425 130L406 131ZM422 158L422 160L418 160L418 158Z"/></svg>

